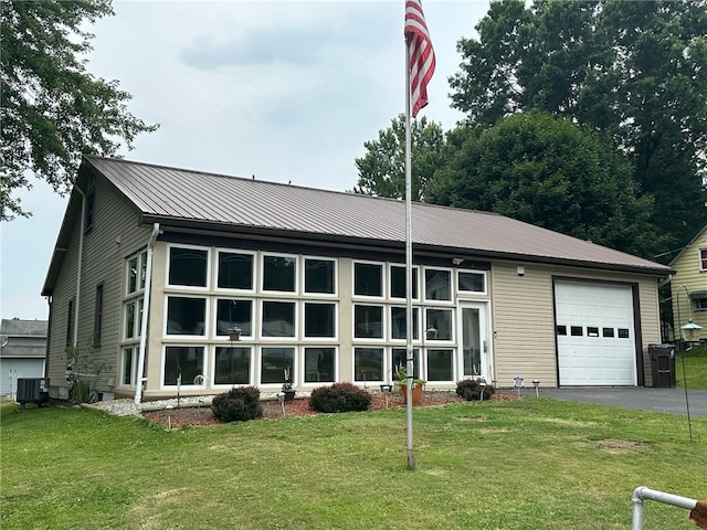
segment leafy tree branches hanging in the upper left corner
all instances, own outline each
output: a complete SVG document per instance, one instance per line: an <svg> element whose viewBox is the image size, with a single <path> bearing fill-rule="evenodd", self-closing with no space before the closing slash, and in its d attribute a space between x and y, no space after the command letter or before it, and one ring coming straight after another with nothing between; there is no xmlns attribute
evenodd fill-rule
<svg viewBox="0 0 707 530"><path fill-rule="evenodd" d="M96 78L81 55L94 35L85 22L112 15L110 0L2 0L0 10L0 221L29 216L13 197L28 172L71 190L82 155L110 156L154 131L127 110L117 81Z"/></svg>

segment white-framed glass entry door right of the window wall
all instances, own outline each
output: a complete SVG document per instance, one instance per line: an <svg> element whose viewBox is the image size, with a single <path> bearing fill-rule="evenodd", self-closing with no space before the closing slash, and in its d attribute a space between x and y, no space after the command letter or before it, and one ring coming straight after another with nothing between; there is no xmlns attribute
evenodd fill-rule
<svg viewBox="0 0 707 530"><path fill-rule="evenodd" d="M492 381L490 340L487 327L487 305L460 304L462 379L483 378Z"/></svg>

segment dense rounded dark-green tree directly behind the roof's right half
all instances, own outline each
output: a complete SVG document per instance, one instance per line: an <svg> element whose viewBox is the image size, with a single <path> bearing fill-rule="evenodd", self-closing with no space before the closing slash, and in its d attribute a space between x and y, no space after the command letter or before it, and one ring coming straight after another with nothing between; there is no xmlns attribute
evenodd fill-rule
<svg viewBox="0 0 707 530"><path fill-rule="evenodd" d="M465 136L435 174L432 202L500 213L634 254L652 244L645 226L653 201L635 199L631 167L610 139L539 112L467 128Z"/></svg>

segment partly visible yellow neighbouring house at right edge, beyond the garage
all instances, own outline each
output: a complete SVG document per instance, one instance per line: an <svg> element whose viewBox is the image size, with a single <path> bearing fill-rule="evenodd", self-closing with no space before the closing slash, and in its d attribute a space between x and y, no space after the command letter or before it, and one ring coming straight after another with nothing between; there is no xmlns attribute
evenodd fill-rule
<svg viewBox="0 0 707 530"><path fill-rule="evenodd" d="M674 335L690 340L689 332L680 328L693 319L703 329L694 329L692 339L707 341L707 224L675 256L671 267L675 269L671 280Z"/></svg>

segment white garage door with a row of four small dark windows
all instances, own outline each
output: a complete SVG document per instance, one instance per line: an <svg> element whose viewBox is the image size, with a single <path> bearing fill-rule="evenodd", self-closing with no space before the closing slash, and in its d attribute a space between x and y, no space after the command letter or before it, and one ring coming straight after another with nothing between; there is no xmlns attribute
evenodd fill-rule
<svg viewBox="0 0 707 530"><path fill-rule="evenodd" d="M560 385L635 385L630 286L555 284Z"/></svg>

